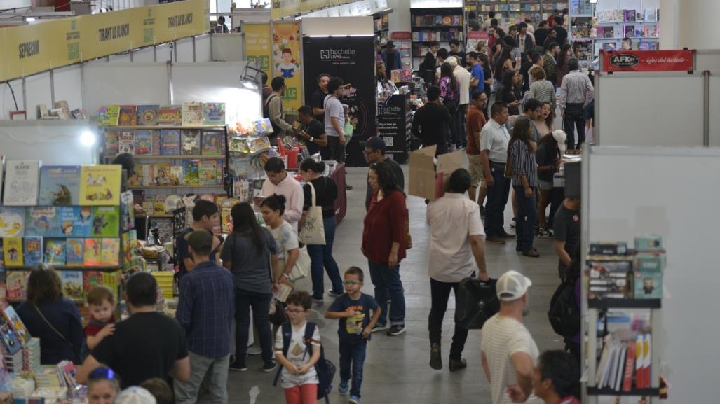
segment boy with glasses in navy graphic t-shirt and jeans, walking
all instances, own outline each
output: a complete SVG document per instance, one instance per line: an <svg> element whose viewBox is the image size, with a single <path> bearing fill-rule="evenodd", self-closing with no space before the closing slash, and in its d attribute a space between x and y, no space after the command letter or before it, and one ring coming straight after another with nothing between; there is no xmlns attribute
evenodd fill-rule
<svg viewBox="0 0 720 404"><path fill-rule="evenodd" d="M362 293L363 272L359 267L350 267L345 272L345 293L337 298L325 312L325 318L339 318L338 336L340 343L340 385L342 395L350 391L349 404L360 404L362 365L365 361L367 341L372 327L380 318L380 308L375 299ZM370 318L372 311L372 318ZM353 363L353 358L361 358ZM352 366L353 385L348 389Z"/></svg>

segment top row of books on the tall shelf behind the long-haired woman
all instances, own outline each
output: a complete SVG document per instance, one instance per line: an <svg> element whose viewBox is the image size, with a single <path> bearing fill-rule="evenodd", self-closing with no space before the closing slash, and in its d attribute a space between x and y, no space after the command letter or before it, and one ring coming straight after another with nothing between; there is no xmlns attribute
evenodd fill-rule
<svg viewBox="0 0 720 404"><path fill-rule="evenodd" d="M102 126L224 125L224 102L184 102L182 105L104 105L97 114Z"/></svg>

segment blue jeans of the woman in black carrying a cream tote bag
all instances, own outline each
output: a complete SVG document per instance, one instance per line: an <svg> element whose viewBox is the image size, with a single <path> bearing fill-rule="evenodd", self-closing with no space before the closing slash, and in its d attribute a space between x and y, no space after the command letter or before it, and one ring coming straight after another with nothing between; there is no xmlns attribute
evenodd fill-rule
<svg viewBox="0 0 720 404"><path fill-rule="evenodd" d="M322 299L325 294L323 267L333 283L333 293L344 293L343 278L340 277L335 258L333 258L333 242L335 241L335 216L323 218L325 228L325 245L307 245L310 255L310 275L312 276L312 297Z"/></svg>

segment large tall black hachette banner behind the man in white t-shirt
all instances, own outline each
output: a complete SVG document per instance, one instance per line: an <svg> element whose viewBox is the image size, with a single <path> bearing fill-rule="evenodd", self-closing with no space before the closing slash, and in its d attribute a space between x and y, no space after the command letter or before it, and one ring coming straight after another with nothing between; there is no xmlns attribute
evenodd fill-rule
<svg viewBox="0 0 720 404"><path fill-rule="evenodd" d="M312 105L320 73L342 78L346 86L341 102L349 106L353 137L346 145L346 165L366 165L361 141L375 136L377 108L375 89L375 45L373 37L303 37L305 104Z"/></svg>

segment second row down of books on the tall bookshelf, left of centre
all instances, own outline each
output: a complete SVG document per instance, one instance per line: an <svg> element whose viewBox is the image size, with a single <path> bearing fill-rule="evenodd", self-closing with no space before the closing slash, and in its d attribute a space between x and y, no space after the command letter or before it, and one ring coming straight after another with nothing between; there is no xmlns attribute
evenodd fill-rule
<svg viewBox="0 0 720 404"><path fill-rule="evenodd" d="M105 154L136 156L225 155L225 132L199 129L106 131Z"/></svg>

